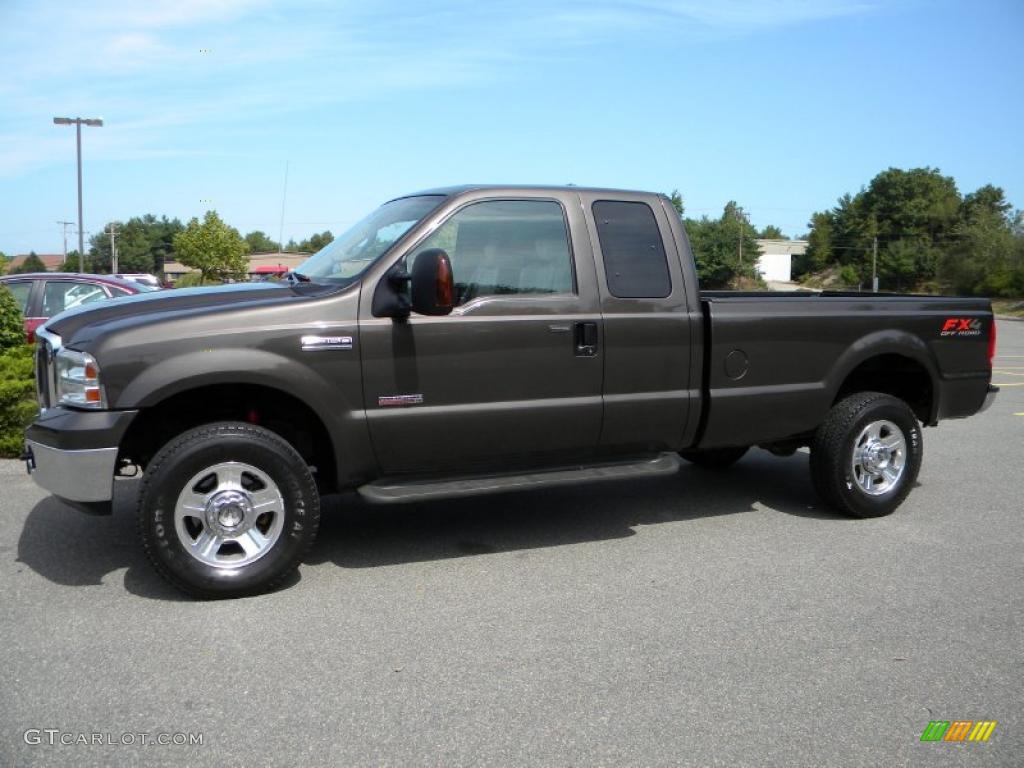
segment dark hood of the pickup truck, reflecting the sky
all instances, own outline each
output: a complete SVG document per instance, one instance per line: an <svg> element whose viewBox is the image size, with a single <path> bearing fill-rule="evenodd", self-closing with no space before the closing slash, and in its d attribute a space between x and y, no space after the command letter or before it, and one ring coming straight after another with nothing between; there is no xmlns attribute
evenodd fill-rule
<svg viewBox="0 0 1024 768"><path fill-rule="evenodd" d="M45 329L60 336L65 344L85 344L115 323L124 328L171 313L179 317L195 316L243 305L276 305L303 297L323 296L338 288L312 283L240 283L140 293L60 312L46 322Z"/></svg>

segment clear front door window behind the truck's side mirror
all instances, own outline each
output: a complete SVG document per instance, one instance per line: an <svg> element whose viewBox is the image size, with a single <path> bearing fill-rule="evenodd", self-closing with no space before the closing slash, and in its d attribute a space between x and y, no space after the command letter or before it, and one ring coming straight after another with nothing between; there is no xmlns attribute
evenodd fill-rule
<svg viewBox="0 0 1024 768"><path fill-rule="evenodd" d="M554 201L473 203L456 212L416 253L432 248L449 255L457 304L482 296L574 290L565 214Z"/></svg>

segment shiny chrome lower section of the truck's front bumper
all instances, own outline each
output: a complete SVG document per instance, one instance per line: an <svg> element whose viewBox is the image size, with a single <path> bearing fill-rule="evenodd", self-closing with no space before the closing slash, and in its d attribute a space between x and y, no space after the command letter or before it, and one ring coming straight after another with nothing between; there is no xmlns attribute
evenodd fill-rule
<svg viewBox="0 0 1024 768"><path fill-rule="evenodd" d="M26 440L26 464L36 484L72 502L109 502L114 498L118 450L65 451Z"/></svg>

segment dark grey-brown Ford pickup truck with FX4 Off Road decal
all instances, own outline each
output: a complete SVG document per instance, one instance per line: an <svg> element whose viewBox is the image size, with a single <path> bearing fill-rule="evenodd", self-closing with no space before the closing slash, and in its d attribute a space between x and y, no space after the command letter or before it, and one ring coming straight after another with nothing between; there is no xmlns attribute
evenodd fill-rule
<svg viewBox="0 0 1024 768"><path fill-rule="evenodd" d="M197 597L279 586L342 490L393 504L809 446L826 504L886 515L922 427L996 391L987 300L700 292L664 196L574 186L398 198L280 284L128 297L38 336L30 472L94 513L140 474L142 547Z"/></svg>

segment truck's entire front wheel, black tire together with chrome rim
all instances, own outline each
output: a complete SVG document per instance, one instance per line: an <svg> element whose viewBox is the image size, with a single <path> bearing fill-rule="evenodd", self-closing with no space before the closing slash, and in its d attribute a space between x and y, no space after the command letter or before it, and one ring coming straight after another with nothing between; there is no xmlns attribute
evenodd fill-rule
<svg viewBox="0 0 1024 768"><path fill-rule="evenodd" d="M174 587L241 597L272 590L299 566L316 538L319 496L306 462L280 435L220 422L178 435L154 457L137 521L150 560ZM234 527L211 527L224 521ZM196 546L186 546L193 537Z"/></svg>

